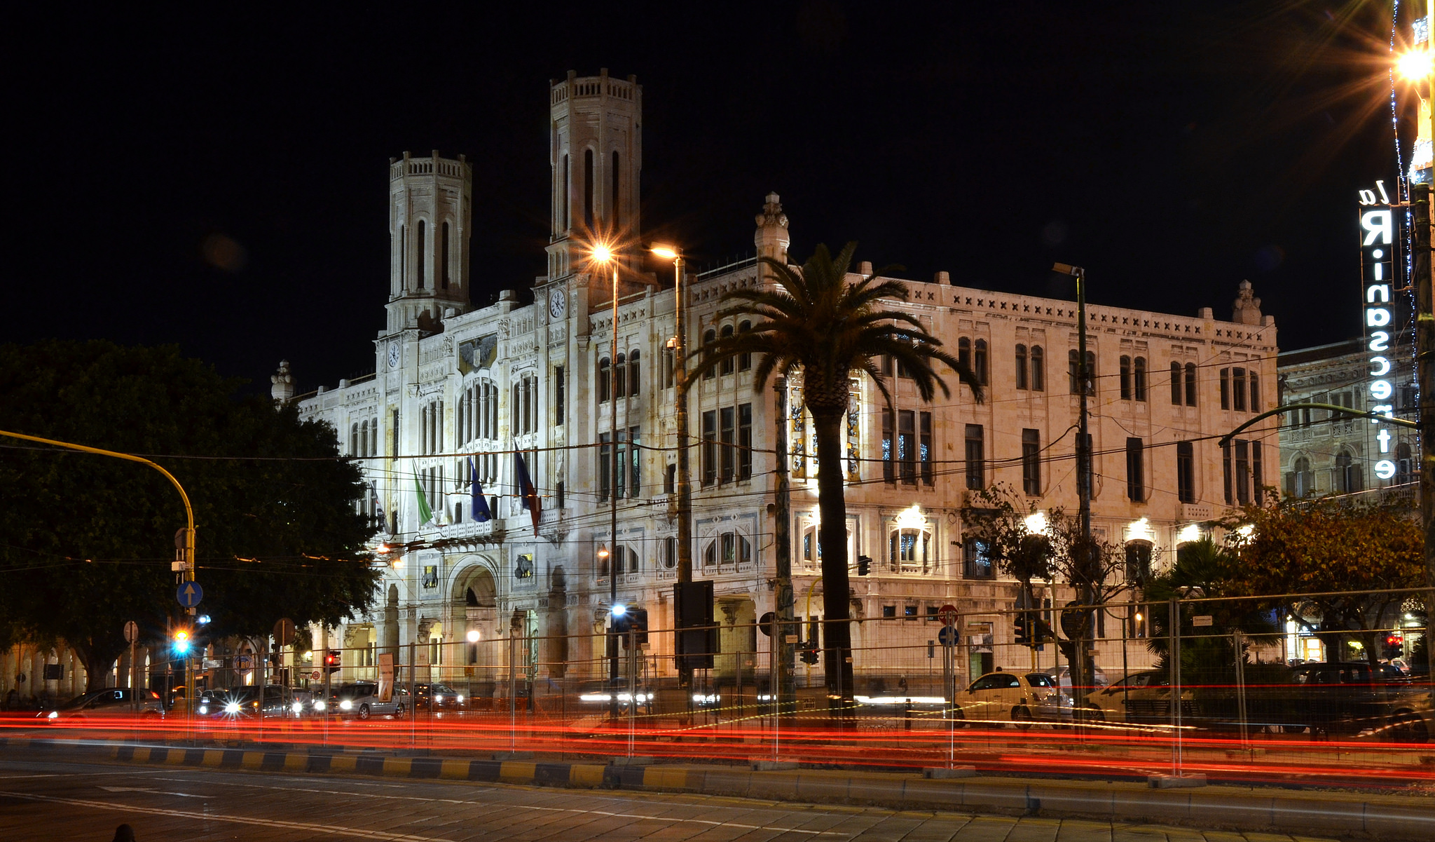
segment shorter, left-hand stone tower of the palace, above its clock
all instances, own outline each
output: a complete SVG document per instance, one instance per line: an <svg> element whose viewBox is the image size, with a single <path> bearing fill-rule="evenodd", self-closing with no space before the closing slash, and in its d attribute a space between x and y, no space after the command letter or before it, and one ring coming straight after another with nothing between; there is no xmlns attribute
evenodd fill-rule
<svg viewBox="0 0 1435 842"><path fill-rule="evenodd" d="M433 329L468 303L474 168L459 155L389 159L389 333Z"/></svg>

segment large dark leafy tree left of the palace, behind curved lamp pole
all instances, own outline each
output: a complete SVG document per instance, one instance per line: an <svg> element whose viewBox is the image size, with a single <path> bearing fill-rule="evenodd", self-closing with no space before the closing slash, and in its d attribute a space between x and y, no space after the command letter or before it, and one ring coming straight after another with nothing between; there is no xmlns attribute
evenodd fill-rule
<svg viewBox="0 0 1435 842"><path fill-rule="evenodd" d="M294 407L238 397L240 381L175 348L108 342L0 346L0 430L152 458L194 504L204 638L336 624L366 609L379 575L354 513L359 468L333 428ZM152 455L158 454L158 455ZM0 440L0 616L11 635L60 638L103 681L123 624L164 639L184 509L145 466Z"/></svg>

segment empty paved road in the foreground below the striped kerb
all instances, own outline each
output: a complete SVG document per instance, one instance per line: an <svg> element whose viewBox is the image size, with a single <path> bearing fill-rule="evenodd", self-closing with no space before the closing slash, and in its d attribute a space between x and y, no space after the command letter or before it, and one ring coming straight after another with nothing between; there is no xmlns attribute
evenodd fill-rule
<svg viewBox="0 0 1435 842"><path fill-rule="evenodd" d="M1281 842L1276 833L208 769L0 760L0 839ZM1300 838L1312 842L1312 838Z"/></svg>

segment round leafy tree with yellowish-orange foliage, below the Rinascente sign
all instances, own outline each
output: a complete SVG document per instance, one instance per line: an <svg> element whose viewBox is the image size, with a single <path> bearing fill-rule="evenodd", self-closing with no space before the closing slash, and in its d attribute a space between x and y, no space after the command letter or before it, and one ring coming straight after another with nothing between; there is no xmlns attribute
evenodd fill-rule
<svg viewBox="0 0 1435 842"><path fill-rule="evenodd" d="M1240 559L1233 595L1313 595L1269 605L1289 608L1292 619L1335 652L1359 641L1376 661L1380 629L1391 628L1409 596L1399 589L1425 583L1421 526L1392 507L1280 500L1248 507L1227 526ZM1248 526L1248 535L1238 526Z"/></svg>

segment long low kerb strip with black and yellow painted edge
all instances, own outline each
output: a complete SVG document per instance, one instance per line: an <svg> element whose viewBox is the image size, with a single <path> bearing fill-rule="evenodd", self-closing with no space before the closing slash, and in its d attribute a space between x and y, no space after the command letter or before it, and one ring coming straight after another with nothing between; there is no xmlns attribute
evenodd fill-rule
<svg viewBox="0 0 1435 842"><path fill-rule="evenodd" d="M756 770L705 764L598 764L541 760L403 757L379 751L194 749L164 744L0 739L6 754L212 769L475 780L630 792L683 792L771 802L871 805L1010 816L1088 818L1238 832L1429 842L1435 797L1141 783L927 779L916 773Z"/></svg>

